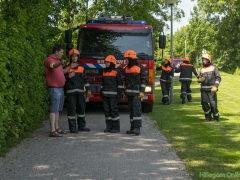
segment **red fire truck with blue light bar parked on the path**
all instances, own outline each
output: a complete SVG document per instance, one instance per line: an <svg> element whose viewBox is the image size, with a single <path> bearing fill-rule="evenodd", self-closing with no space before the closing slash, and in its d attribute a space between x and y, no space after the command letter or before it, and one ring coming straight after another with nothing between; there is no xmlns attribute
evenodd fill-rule
<svg viewBox="0 0 240 180"><path fill-rule="evenodd" d="M99 91L102 83L102 71L105 68L104 58L112 54L117 59L116 68L121 69L124 79L126 62L123 57L126 50L137 53L138 62L145 67L148 84L142 101L142 112L151 112L154 103L154 48L153 28L145 20L133 20L130 15L105 16L88 20L75 29L65 31L67 52L73 47L72 32L78 30L77 49L81 53L80 64L91 87L89 101L101 102ZM122 99L121 103L126 103Z"/></svg>

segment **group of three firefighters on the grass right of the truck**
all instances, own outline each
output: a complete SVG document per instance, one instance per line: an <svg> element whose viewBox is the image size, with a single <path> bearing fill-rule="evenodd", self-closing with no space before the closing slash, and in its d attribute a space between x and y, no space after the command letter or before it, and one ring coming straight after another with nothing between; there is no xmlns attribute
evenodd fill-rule
<svg viewBox="0 0 240 180"><path fill-rule="evenodd" d="M205 122L214 119L219 121L219 111L217 108L217 91L221 82L221 76L216 66L212 64L212 58L209 54L202 55L203 67L198 74L194 66L190 63L187 56L183 58L183 63L176 68L172 66L172 59L165 58L164 65L157 67L156 70L161 70L160 84L162 89L162 103L169 105L169 92L171 88L174 72L180 73L179 81L181 82L182 104L185 104L187 97L188 102L192 102L191 82L192 74L197 77L197 82L201 84L201 105L205 114Z"/></svg>

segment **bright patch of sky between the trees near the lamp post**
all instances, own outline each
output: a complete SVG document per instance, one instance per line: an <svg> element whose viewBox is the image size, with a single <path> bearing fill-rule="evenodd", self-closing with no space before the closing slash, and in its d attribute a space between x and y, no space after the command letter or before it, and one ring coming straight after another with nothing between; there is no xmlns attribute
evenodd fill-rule
<svg viewBox="0 0 240 180"><path fill-rule="evenodd" d="M178 4L178 7L183 9L183 11L185 12L185 17L181 18L180 22L173 22L173 33L180 29L182 26L188 24L188 20L191 18L190 11L192 11L193 6L196 4L196 0L195 2L191 2L191 0L182 0L182 2Z"/></svg>

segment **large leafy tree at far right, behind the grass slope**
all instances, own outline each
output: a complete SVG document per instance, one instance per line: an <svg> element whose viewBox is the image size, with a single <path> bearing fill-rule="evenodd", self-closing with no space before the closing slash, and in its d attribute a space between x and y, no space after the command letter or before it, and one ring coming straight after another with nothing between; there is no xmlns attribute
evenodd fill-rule
<svg viewBox="0 0 240 180"><path fill-rule="evenodd" d="M214 61L224 70L234 72L240 65L239 25L240 2L237 0L198 0L207 22L215 24L215 43L212 43Z"/></svg>

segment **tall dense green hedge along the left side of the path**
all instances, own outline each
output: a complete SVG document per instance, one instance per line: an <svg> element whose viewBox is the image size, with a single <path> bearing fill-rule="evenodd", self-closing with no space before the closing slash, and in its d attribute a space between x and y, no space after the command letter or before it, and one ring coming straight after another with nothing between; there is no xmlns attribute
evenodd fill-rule
<svg viewBox="0 0 240 180"><path fill-rule="evenodd" d="M0 1L0 146L46 119L43 61L59 33L58 2Z"/></svg>

